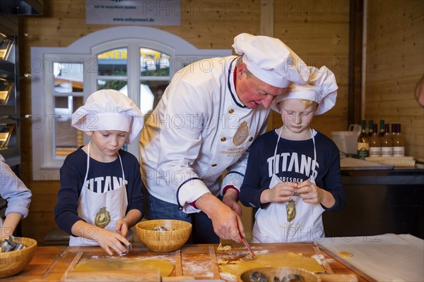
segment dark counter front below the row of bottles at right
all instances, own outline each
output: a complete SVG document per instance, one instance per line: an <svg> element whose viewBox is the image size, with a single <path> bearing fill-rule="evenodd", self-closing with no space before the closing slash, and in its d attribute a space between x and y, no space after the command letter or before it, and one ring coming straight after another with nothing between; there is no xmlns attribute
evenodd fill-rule
<svg viewBox="0 0 424 282"><path fill-rule="evenodd" d="M345 170L348 204L324 212L326 237L409 233L424 238L424 169Z"/></svg>

